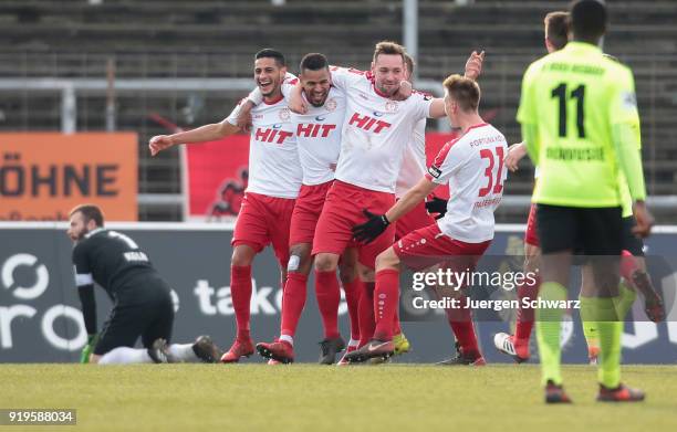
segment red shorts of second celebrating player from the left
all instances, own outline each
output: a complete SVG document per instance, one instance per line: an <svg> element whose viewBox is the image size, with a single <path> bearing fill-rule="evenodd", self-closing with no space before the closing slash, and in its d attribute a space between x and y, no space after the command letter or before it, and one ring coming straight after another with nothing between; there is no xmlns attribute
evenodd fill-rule
<svg viewBox="0 0 677 432"><path fill-rule="evenodd" d="M289 234L290 246L300 243L313 243L315 226L317 226L326 193L333 183L334 180L313 186L301 185L292 214Z"/></svg>

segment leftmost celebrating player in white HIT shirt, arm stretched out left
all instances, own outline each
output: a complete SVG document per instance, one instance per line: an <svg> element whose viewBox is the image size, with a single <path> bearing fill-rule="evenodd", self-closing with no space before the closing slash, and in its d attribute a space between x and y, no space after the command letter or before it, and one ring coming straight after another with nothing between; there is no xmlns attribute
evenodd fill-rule
<svg viewBox="0 0 677 432"><path fill-rule="evenodd" d="M280 88L287 74L284 56L275 50L261 50L254 56L253 72L264 103L251 110L248 186L236 221L230 261L237 337L222 362L237 362L253 354L249 328L251 264L270 243L280 264L282 284L287 280L290 224L302 178L296 130ZM221 123L153 137L150 152L156 155L176 144L210 141L240 131L237 124L241 106L242 103Z"/></svg>

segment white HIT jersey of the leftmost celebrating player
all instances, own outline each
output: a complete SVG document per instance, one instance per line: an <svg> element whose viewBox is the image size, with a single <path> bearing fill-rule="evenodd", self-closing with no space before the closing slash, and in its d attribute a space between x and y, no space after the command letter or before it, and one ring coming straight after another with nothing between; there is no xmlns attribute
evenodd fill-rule
<svg viewBox="0 0 677 432"><path fill-rule="evenodd" d="M228 116L230 124L237 124L241 105L242 102ZM272 104L263 102L254 106L251 122L247 190L275 198L296 198L301 188L301 164L287 102L280 98Z"/></svg>

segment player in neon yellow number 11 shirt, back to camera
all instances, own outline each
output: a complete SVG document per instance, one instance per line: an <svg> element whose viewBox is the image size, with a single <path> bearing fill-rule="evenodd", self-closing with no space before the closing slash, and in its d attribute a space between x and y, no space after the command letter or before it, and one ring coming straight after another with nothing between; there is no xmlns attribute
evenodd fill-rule
<svg viewBox="0 0 677 432"><path fill-rule="evenodd" d="M632 72L597 48L606 30L606 8L579 0L571 8L572 41L532 63L522 82L518 120L529 156L540 168L533 202L542 250L540 298L566 298L572 252L593 266L595 304L582 308L597 322L600 401L640 401L644 392L621 383L621 333L614 298L622 250L621 173L634 201L639 236L653 218L637 151L637 106ZM591 185L590 180L595 179ZM548 403L567 403L562 387L558 307L537 310L537 339Z"/></svg>

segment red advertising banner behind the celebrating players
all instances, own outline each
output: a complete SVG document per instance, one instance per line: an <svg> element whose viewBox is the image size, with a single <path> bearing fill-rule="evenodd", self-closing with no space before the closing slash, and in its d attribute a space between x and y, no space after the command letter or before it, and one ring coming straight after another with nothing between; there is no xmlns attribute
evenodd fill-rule
<svg viewBox="0 0 677 432"><path fill-rule="evenodd" d="M426 134L426 157L430 165L454 134ZM236 135L218 141L186 146L187 219L230 222L240 210L249 178L249 135ZM446 187L435 194L448 198Z"/></svg>

